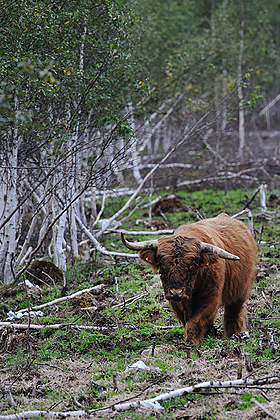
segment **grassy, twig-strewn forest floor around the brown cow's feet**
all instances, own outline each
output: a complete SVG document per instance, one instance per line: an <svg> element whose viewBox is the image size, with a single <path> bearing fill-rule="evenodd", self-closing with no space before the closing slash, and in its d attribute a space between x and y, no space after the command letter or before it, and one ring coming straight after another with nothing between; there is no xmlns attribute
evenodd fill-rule
<svg viewBox="0 0 280 420"><path fill-rule="evenodd" d="M201 191L179 196L192 207L203 205L210 217L223 207L235 213L250 193ZM103 286L45 306L43 315L29 318L29 327L22 329L3 325L8 322L7 313L60 298L62 283L57 278L54 287L45 276L45 284L38 281L39 287L28 290L28 295L22 284L2 287L0 419L23 412L42 418L46 411L60 418L70 412L76 418L100 419L279 419L279 381L269 383L267 378L280 376L280 216L272 208L267 217L260 216L256 202L251 208L260 244L258 274L247 305L248 334L224 337L221 309L209 335L197 348L191 347L190 354L183 328L164 300L159 276L139 260L111 261L96 254L88 263L76 261L66 273L67 296ZM145 217L143 211L140 216ZM190 211L166 214L174 227L195 218L196 213ZM133 223L126 228L135 229ZM107 249L123 250L119 235L106 236L103 243ZM36 283L34 277L29 279ZM26 325L28 317L12 322ZM252 370L245 362L248 355ZM140 361L142 368L132 367ZM242 379L266 378L268 382L237 387L234 381L240 369ZM230 388L202 388L161 401L161 409L114 409L125 401L145 400L204 381L228 380L233 381ZM15 406L9 404L5 390L11 391Z"/></svg>

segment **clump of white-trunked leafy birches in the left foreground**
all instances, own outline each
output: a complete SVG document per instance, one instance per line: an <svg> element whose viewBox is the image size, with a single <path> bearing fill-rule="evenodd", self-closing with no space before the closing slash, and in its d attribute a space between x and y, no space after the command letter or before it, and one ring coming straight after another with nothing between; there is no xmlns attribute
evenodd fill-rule
<svg viewBox="0 0 280 420"><path fill-rule="evenodd" d="M123 111L126 95L134 95L133 22L132 9L121 2L16 0L3 7L1 282L14 280L18 263L39 249L50 229L49 255L65 270L68 222L73 254L79 253L83 194L114 172L120 152L106 150L129 135ZM35 214L28 221L30 208Z"/></svg>

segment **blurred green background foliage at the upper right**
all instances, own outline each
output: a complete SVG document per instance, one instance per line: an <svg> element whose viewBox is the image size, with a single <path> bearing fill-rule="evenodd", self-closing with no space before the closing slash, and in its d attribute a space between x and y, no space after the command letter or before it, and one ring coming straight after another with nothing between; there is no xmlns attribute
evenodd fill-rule
<svg viewBox="0 0 280 420"><path fill-rule="evenodd" d="M142 31L136 54L143 63L141 80L155 85L159 98L165 98L166 91L173 95L178 89L185 92L184 117L190 118L207 109L217 95L234 94L240 54L240 3L141 0L139 7ZM244 23L242 86L244 106L251 110L278 77L279 5L245 2ZM246 74L250 74L250 83ZM207 93L204 101L203 93ZM230 105L235 108L236 101L231 99Z"/></svg>

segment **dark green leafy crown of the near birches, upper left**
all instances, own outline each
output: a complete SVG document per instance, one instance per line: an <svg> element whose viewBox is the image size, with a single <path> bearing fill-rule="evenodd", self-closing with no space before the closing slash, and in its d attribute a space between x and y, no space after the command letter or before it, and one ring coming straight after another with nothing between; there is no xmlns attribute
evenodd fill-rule
<svg viewBox="0 0 280 420"><path fill-rule="evenodd" d="M136 93L131 6L88 0L5 3L0 128L17 125L28 143L46 146L78 124L82 128L92 109L94 126L117 122L120 107Z"/></svg>

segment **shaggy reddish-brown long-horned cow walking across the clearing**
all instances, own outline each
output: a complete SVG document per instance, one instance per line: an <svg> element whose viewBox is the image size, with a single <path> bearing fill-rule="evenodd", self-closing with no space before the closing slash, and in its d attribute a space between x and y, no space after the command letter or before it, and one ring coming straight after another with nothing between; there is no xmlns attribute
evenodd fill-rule
<svg viewBox="0 0 280 420"><path fill-rule="evenodd" d="M257 245L242 222L222 213L159 239L134 243L122 234L122 240L159 269L165 297L184 325L187 341L201 341L220 306L225 307L225 334L231 337L243 330Z"/></svg>

